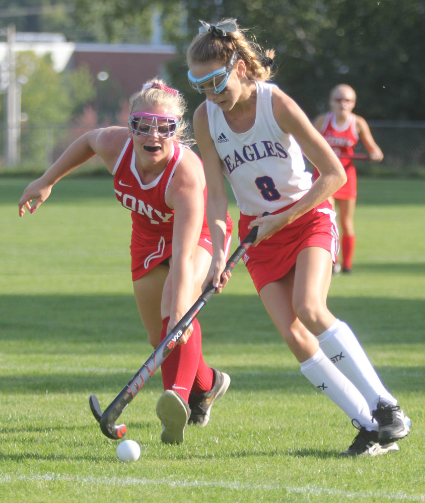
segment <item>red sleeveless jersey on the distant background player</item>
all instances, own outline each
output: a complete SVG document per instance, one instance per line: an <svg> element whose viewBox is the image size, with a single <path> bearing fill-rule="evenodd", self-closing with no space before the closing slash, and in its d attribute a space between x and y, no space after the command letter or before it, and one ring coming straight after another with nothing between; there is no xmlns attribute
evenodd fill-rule
<svg viewBox="0 0 425 503"><path fill-rule="evenodd" d="M359 141L355 115L350 114L345 123L338 126L335 121L335 114L328 113L320 132L346 169L352 163L351 159L346 156L353 154L353 147Z"/></svg>

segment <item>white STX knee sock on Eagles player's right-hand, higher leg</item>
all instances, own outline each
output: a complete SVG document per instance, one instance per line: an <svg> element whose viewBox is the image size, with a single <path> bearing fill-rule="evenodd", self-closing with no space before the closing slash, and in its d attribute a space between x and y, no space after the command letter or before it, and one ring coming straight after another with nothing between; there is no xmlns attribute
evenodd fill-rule
<svg viewBox="0 0 425 503"><path fill-rule="evenodd" d="M391 405L397 404L346 323L337 319L317 339L323 353L365 397L371 412L380 399Z"/></svg>

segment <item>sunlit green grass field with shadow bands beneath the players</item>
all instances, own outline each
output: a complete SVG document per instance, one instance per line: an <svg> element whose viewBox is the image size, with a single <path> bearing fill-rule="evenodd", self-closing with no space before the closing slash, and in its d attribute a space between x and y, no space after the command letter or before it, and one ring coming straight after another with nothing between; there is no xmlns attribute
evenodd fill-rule
<svg viewBox="0 0 425 503"><path fill-rule="evenodd" d="M205 429L163 445L157 372L121 416L141 446L129 464L88 398L105 408L151 354L130 281L130 215L99 177L59 182L20 219L28 182L0 180L2 503L425 501L425 181L360 180L355 272L329 295L412 418L398 453L338 457L357 430L302 376L239 264L199 315L206 362L232 378L226 397Z"/></svg>

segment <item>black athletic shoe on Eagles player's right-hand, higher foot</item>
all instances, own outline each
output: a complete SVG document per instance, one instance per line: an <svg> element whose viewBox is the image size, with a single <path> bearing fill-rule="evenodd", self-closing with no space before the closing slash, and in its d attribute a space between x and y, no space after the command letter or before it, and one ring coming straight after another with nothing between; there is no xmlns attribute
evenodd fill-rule
<svg viewBox="0 0 425 503"><path fill-rule="evenodd" d="M380 401L372 412L372 418L378 423L380 444L389 444L406 437L410 433L412 422L399 405L389 405Z"/></svg>

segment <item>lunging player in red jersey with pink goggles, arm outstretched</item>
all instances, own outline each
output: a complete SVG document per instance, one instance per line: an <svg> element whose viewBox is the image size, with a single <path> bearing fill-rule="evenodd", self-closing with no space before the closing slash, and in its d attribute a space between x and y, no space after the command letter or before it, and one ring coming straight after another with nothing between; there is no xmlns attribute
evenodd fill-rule
<svg viewBox="0 0 425 503"><path fill-rule="evenodd" d="M156 348L201 293L211 264L206 185L199 157L185 145L186 105L178 91L155 79L130 99L128 127L96 129L76 140L19 201L33 213L53 185L95 154L114 176L118 202L131 211L131 272L141 320ZM32 205L30 203L34 201ZM230 247L227 215L222 247ZM195 319L168 358L157 403L161 440L181 443L189 423L205 426L215 400L230 384L206 365Z"/></svg>

